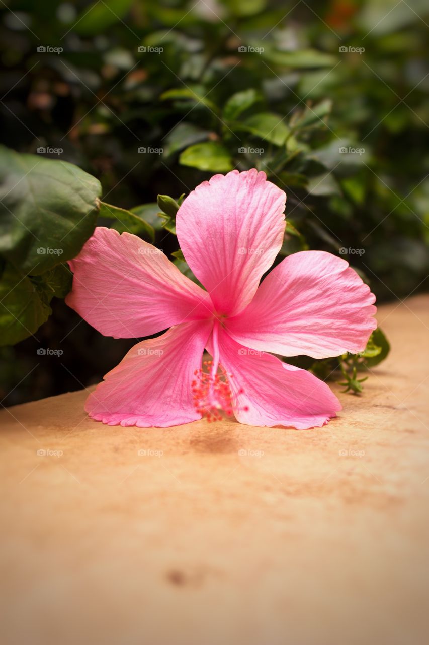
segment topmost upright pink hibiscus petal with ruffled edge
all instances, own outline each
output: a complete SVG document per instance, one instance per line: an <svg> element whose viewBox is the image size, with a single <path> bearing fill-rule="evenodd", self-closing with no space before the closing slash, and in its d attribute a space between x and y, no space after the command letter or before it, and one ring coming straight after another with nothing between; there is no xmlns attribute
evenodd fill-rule
<svg viewBox="0 0 429 645"><path fill-rule="evenodd" d="M176 215L180 248L218 313L238 313L280 251L286 195L253 170L214 175Z"/></svg>

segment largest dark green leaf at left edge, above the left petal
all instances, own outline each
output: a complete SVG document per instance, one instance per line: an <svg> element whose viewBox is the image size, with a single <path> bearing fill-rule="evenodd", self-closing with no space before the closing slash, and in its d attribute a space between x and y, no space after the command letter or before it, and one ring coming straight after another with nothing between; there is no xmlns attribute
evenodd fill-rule
<svg viewBox="0 0 429 645"><path fill-rule="evenodd" d="M71 163L0 146L0 254L33 275L76 257L93 233L100 192Z"/></svg>

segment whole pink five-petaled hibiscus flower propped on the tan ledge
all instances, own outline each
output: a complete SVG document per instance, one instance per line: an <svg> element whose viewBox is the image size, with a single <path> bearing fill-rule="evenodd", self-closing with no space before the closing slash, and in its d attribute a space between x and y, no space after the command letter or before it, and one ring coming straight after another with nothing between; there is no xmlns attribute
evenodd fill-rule
<svg viewBox="0 0 429 645"><path fill-rule="evenodd" d="M281 261L285 193L263 172L204 181L176 215L187 263L206 291L135 235L95 229L70 262L67 304L104 335L138 342L86 401L109 425L175 426L220 409L253 426L323 426L341 410L327 384L271 353L359 352L376 328L375 297L323 251ZM205 348L213 357L202 372Z"/></svg>

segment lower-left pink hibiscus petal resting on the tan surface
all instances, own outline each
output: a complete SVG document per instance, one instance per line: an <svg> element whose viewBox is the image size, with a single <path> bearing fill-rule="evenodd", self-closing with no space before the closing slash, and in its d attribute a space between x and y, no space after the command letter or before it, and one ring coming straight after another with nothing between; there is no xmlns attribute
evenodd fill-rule
<svg viewBox="0 0 429 645"><path fill-rule="evenodd" d="M191 382L201 367L209 321L172 327L138 342L86 400L92 419L110 426L167 428L200 419Z"/></svg>

